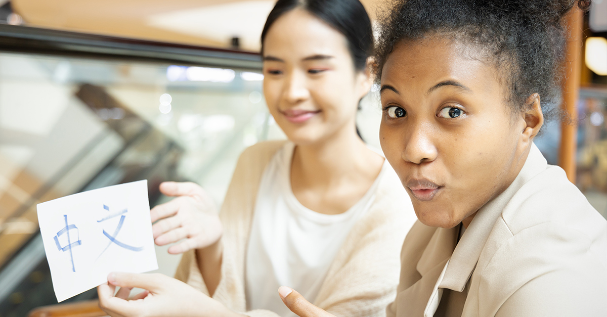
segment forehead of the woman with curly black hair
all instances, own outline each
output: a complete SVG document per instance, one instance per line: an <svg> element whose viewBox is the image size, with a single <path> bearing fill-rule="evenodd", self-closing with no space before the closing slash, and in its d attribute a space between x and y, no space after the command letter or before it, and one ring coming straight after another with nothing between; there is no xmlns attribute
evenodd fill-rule
<svg viewBox="0 0 607 317"><path fill-rule="evenodd" d="M440 37L397 43L381 76L382 84L412 89L427 89L443 80L480 90L501 87L497 69L484 61L480 49Z"/></svg>

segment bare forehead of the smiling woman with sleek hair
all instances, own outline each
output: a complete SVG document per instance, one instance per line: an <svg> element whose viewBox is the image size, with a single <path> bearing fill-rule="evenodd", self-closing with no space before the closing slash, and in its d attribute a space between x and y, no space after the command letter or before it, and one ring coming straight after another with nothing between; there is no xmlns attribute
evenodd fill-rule
<svg viewBox="0 0 607 317"><path fill-rule="evenodd" d="M276 19L263 42L264 56L282 59L344 54L349 55L345 36L301 9L291 10Z"/></svg>

